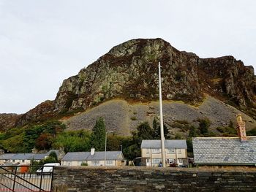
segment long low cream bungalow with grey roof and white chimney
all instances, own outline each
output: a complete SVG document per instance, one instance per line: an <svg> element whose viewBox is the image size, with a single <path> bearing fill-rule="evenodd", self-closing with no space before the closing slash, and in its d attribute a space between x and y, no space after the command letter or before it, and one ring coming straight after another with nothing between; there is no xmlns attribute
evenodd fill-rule
<svg viewBox="0 0 256 192"><path fill-rule="evenodd" d="M105 161L106 154L106 161ZM99 151L95 152L91 148L91 152L69 152L62 158L61 165L80 166L86 163L89 166L124 166L126 160L121 151Z"/></svg>

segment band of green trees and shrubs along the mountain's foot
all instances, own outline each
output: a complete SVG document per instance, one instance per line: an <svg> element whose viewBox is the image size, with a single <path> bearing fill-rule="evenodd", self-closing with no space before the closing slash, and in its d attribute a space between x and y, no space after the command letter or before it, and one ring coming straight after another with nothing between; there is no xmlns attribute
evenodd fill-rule
<svg viewBox="0 0 256 192"><path fill-rule="evenodd" d="M236 136L236 128L230 121L228 126L218 127L216 132L210 131L211 121L207 118L195 120L198 126L189 124L186 120L176 120L171 128L179 128L181 131L173 134L164 125L165 139L186 139L187 152L192 155L192 137L215 137L221 134L223 137ZM143 139L160 139L160 126L154 118L153 127L148 122L140 123L132 135L122 137L115 133L108 134L107 150L121 150L127 160L140 157L140 145ZM40 125L11 128L0 133L0 148L10 153L31 153L33 148L37 150L50 150L52 148L64 148L67 152L89 151L94 147L96 151L105 150L106 128L103 118L98 118L92 131L86 129L77 131L65 131L65 125L57 120L47 121ZM247 135L256 135L256 128L247 131ZM55 162L56 157L50 155L49 159L34 164Z"/></svg>

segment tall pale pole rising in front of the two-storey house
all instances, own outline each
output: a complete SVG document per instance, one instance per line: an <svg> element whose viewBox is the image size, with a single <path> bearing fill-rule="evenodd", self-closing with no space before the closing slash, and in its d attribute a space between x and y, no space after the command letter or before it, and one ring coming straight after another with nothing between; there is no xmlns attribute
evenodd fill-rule
<svg viewBox="0 0 256 192"><path fill-rule="evenodd" d="M162 120L162 87L161 87L161 64L158 63L158 72L159 72L159 112L160 112L160 132L161 132L161 149L162 149L162 166L165 167L165 135L164 135L164 126Z"/></svg>

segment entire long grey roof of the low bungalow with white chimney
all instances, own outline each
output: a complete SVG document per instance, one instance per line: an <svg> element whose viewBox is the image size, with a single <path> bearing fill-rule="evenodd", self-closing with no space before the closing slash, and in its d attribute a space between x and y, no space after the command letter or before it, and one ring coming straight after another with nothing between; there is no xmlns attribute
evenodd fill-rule
<svg viewBox="0 0 256 192"><path fill-rule="evenodd" d="M121 157L120 157L121 155ZM95 152L91 155L91 152L69 152L64 155L62 161L99 161L105 159L105 151ZM124 159L121 151L107 151L106 160L122 160Z"/></svg>

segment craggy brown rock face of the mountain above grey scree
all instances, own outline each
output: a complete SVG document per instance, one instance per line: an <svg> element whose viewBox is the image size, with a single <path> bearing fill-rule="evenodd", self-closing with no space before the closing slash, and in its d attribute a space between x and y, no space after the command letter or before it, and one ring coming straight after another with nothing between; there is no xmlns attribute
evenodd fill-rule
<svg viewBox="0 0 256 192"><path fill-rule="evenodd" d="M64 80L54 101L45 101L20 115L15 126L90 110L111 99L130 103L156 101L158 61L162 65L164 100L199 106L210 96L256 119L256 77L252 66L244 66L233 56L199 58L176 50L163 39L132 39Z"/></svg>

